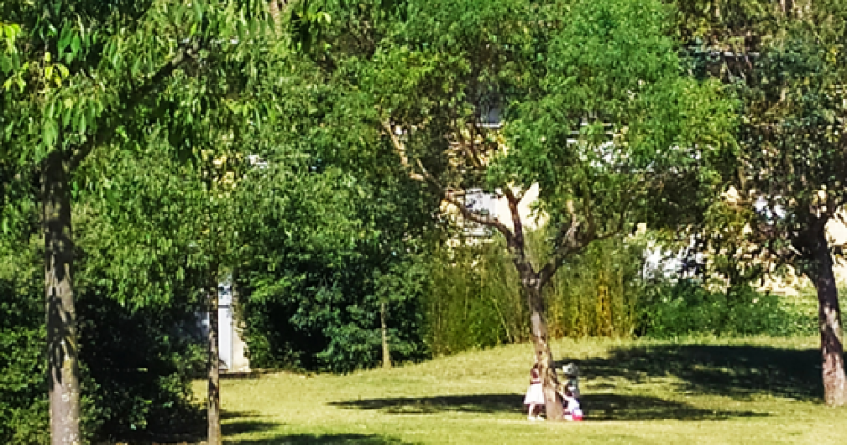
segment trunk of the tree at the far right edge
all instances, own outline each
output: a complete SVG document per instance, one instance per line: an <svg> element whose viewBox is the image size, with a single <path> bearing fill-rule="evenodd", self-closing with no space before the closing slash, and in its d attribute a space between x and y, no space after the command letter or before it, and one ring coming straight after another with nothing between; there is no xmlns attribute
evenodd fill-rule
<svg viewBox="0 0 847 445"><path fill-rule="evenodd" d="M841 310L838 288L835 287L833 261L823 229L811 240L813 263L809 278L818 291L818 328L820 352L823 359L824 402L831 407L847 404L847 378L844 375L844 356L841 343Z"/></svg>

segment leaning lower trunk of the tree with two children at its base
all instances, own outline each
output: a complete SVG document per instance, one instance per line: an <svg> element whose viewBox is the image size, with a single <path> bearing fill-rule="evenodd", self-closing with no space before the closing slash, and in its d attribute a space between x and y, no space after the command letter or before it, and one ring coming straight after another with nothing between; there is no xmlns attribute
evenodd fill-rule
<svg viewBox="0 0 847 445"><path fill-rule="evenodd" d="M526 292L527 304L530 307L535 361L539 364L539 372L544 380L544 411L547 414L547 420L563 420L562 401L559 400L559 395L555 392L559 379L555 375L553 352L548 343L547 320L544 317L544 301L541 299L541 287L538 279L523 279L523 289Z"/></svg>

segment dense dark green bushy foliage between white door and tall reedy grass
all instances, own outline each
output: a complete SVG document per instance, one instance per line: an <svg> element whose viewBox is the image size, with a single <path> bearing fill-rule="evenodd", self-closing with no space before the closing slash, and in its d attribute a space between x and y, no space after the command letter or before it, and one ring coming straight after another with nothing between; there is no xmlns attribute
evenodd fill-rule
<svg viewBox="0 0 847 445"><path fill-rule="evenodd" d="M388 307L392 360L422 357L415 247L399 247L362 200L366 183L337 168L271 163L245 182L257 219L237 268L251 366L349 371L381 359L379 306ZM247 196L247 195L243 195ZM400 232L402 234L402 232ZM395 247L397 246L397 247Z"/></svg>

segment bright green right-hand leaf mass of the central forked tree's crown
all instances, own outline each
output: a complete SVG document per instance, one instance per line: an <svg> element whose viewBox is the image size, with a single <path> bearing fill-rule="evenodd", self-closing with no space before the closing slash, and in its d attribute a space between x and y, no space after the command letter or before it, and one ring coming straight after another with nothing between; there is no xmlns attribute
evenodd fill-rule
<svg viewBox="0 0 847 445"><path fill-rule="evenodd" d="M549 30L538 87L514 101L512 150L492 173L539 184L536 206L554 224L583 221L589 239L696 218L720 191L734 103L682 71L659 2L558 7L548 13L568 20Z"/></svg>

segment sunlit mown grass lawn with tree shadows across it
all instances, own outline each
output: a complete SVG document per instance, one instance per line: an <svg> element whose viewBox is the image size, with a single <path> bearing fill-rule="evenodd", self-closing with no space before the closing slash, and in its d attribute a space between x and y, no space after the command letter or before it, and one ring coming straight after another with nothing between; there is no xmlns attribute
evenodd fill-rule
<svg viewBox="0 0 847 445"><path fill-rule="evenodd" d="M526 420L531 349L515 344L347 376L224 380L225 443L847 443L847 409L821 405L817 337L553 348L580 365L584 422Z"/></svg>

